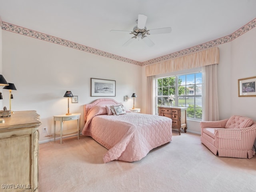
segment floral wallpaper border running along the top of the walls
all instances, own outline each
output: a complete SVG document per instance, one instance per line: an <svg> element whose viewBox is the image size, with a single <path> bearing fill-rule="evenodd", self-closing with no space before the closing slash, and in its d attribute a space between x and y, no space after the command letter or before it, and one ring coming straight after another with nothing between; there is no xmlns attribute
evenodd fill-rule
<svg viewBox="0 0 256 192"><path fill-rule="evenodd" d="M158 63L158 62L161 62L161 61L169 60L169 59L172 59L172 58L175 58L175 57L183 56L183 55L190 54L190 53L193 53L193 52L196 52L196 51L204 50L204 49L207 49L207 48L211 48L213 46L217 46L217 45L220 45L220 44L230 42L230 41L234 40L235 38L238 38L240 35L248 32L252 28L256 27L256 18L254 20L250 21L248 24L244 25L242 28L238 29L236 32L234 32L234 33L232 33L228 36L224 36L222 38L218 38L218 39L212 40L210 42L206 42L206 43L203 43L203 44L191 47L191 48L187 48L187 49L184 49L184 50L181 50L181 51L178 51L178 52L174 52L174 53L171 53L171 54L168 54L168 55L165 55L165 56L161 56L161 57L158 57L158 58L155 58L155 59L152 59L152 60L148 60L148 61L145 61L145 62L138 62L138 61L135 61L135 60L132 60L132 59L124 58L124 57L121 57L121 56L118 56L118 55L115 55L115 54L111 54L111 53L108 53L108 52L97 50L97 49L94 49L94 48L91 48L91 47L88 47L88 46L84 46L84 45L81 45L81 44L77 44L77 43L74 43L74 42L71 42L71 41L68 41L68 40L64 40L64 39L61 39L61 38L50 36L48 34L40 33L40 32L34 31L34 30L30 30L30 29L27 29L27 28L23 28L23 27L20 27L20 26L16 26L16 25L7 23L7 22L3 22L1 20L0 20L0 25L1 25L2 30L6 30L6 31L22 34L22 35L25 35L25 36L37 38L37 39L40 39L40 40L60 44L60 45L67 46L67 47L70 47L70 48L74 48L74 49L77 49L77 50L81 50L81 51L97 54L97 55L100 55L100 56L104 56L104 57L107 57L107 58L112 58L112 59L115 59L115 60L119 60L119 61L122 61L122 62L135 64L135 65L139 65L139 66L146 66L146 65L149 65L149 64Z"/></svg>

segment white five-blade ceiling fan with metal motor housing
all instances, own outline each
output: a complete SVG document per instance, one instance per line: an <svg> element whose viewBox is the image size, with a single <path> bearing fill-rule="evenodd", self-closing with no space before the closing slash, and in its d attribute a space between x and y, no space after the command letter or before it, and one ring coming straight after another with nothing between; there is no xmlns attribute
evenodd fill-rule
<svg viewBox="0 0 256 192"><path fill-rule="evenodd" d="M123 46L127 46L134 40L142 40L144 41L148 46L154 46L154 42L148 38L146 35L150 34L163 34L163 33L170 33L172 31L172 28L170 27L165 27L165 28L158 28L158 29L150 29L147 30L146 28L146 21L147 21L147 16L143 14L138 14L138 20L136 20L137 25L134 26L133 31L124 31L124 30L110 30L112 31L118 31L118 32L130 32L130 34L133 34L134 36L130 38L127 42L123 44Z"/></svg>

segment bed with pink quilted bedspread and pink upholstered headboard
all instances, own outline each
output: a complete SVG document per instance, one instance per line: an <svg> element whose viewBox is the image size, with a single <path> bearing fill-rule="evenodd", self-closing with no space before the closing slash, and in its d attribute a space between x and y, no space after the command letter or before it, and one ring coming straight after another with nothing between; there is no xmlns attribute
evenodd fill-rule
<svg viewBox="0 0 256 192"><path fill-rule="evenodd" d="M111 98L84 105L84 120L82 134L108 149L103 156L105 163L141 160L150 150L172 140L171 118L130 112Z"/></svg>

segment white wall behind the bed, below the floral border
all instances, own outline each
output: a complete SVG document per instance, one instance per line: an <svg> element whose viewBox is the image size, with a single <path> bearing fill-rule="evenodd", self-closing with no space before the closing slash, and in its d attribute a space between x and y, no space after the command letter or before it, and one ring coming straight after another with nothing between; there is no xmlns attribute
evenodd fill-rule
<svg viewBox="0 0 256 192"><path fill-rule="evenodd" d="M45 137L43 127L53 134L53 115L66 114L66 90L78 96L78 103L71 103L70 112L81 113L83 106L98 97L90 96L90 78L116 80L116 97L132 108L132 93L137 93L136 107L140 106L141 67L75 50L58 44L38 40L2 30L3 75L17 90L12 91L12 110L36 110L40 114L40 141ZM3 104L9 108L9 91L2 90ZM58 122L57 122L58 123ZM58 125L58 124L57 124ZM76 126L76 121L65 122L64 129Z"/></svg>

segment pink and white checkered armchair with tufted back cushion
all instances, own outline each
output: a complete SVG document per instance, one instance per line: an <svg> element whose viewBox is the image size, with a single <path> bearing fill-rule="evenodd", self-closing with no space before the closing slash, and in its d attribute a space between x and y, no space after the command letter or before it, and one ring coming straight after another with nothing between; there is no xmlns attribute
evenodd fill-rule
<svg viewBox="0 0 256 192"><path fill-rule="evenodd" d="M200 123L201 142L221 157L252 158L256 122L243 116Z"/></svg>

